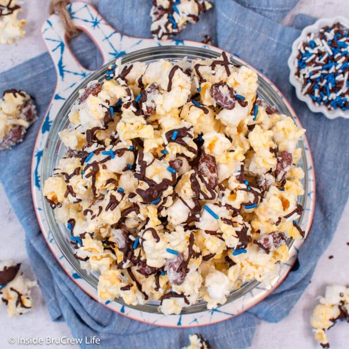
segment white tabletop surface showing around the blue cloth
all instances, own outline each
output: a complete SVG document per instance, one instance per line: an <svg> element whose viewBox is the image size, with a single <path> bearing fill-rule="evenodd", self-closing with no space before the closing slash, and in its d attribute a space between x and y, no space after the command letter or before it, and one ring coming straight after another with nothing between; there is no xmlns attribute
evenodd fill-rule
<svg viewBox="0 0 349 349"><path fill-rule="evenodd" d="M6 70L18 63L44 52L39 28L48 14L47 0L27 0L23 3L23 16L27 19L26 37L11 46L0 47L0 71ZM96 3L97 0L87 2ZM30 4L30 5L29 5ZM284 19L288 24L297 13L305 13L312 16L335 16L349 13L349 1L347 0L301 0L296 8ZM3 48L6 48L6 54ZM0 259L13 258L22 262L22 270L33 278L28 256L25 251L24 232L13 212L2 186L0 186L0 231L2 232L2 252ZM327 284L349 284L348 265L349 246L349 204L344 210L336 234L321 257L311 284L308 286L301 299L284 320L270 324L261 321L257 326L252 348L282 348L282 349L317 349L321 348L313 340L309 318L312 309L317 304L316 297L324 293ZM333 259L328 256L333 254ZM345 267L343 267L345 266ZM10 345L8 338L18 335L25 338L39 336L45 338L71 337L70 330L65 322L51 322L45 303L38 288L33 291L35 308L31 313L17 318L8 318L5 307L0 309L0 348L36 348L31 345ZM348 348L349 331L348 324L338 323L329 331L331 348ZM45 347L45 346L41 346ZM49 348L59 348L58 345L50 345ZM71 345L65 348L75 348ZM103 348L103 345L101 346ZM217 348L221 349L221 348Z"/></svg>

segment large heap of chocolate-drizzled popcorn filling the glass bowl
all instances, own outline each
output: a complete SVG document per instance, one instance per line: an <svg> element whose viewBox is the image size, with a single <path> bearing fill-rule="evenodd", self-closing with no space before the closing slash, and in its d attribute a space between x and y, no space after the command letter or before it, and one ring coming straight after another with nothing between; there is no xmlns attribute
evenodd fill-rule
<svg viewBox="0 0 349 349"><path fill-rule="evenodd" d="M217 59L117 61L59 133L44 195L103 300L209 309L275 277L302 238L304 129L258 98L257 75Z"/></svg>

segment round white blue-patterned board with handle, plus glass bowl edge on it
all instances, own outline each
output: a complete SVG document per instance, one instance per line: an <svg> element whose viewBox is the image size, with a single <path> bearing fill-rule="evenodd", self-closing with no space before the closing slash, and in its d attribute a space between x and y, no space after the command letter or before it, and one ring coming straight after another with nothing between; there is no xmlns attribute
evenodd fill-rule
<svg viewBox="0 0 349 349"><path fill-rule="evenodd" d="M67 114L78 97L78 90L85 87L90 80L102 80L107 66L120 56L124 56L123 63L150 62L160 58L176 61L184 57L187 57L188 60L196 57L217 57L222 50L191 41L173 40L159 43L152 39L127 37L115 32L96 10L86 3L74 2L69 5L68 9L75 25L95 41L102 53L104 65L96 72L83 68L68 49L59 17L53 15L44 23L42 34L55 64L58 79L56 90L34 146L32 196L42 233L57 261L79 287L92 298L98 300L96 289L98 274L80 268L79 261L74 257L74 251L69 243L70 232L63 224L55 221L54 213L42 193L42 183L52 174L58 159L64 154L65 149L59 140L58 131L69 124ZM245 64L256 71L239 58L233 55L230 58L234 63ZM301 127L295 112L280 91L265 76L258 71L256 72L259 84L258 95L268 104L275 105L279 112L293 117L298 127ZM302 137L299 146L302 148L300 166L305 172L303 180L305 194L299 200L304 211L298 224L305 231L306 238L314 215L315 177L313 161L305 137ZM270 285L262 286L257 282L246 283L237 291L232 292L228 301L217 309L207 310L206 303L199 301L197 304L183 309L181 315L165 316L157 311L159 304L155 301L138 306L125 305L122 299L107 301L104 304L122 315L155 325L191 327L213 324L236 316L267 297L273 289L280 285L292 269L303 241L304 239L296 240L290 244L290 259L287 263L280 265L278 276Z"/></svg>

